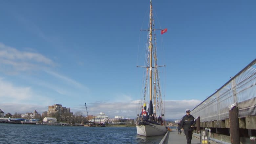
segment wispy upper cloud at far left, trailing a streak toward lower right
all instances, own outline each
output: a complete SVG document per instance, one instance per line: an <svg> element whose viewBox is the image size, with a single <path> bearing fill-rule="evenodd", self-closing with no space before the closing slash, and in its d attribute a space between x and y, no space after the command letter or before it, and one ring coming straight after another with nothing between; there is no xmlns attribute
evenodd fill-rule
<svg viewBox="0 0 256 144"><path fill-rule="evenodd" d="M73 85L76 88L81 88L89 91L87 87L76 82L72 78L51 71L51 67L54 67L57 64L54 63L50 58L47 58L40 53L34 52L31 48L26 48L26 50L30 51L20 51L13 47L6 46L5 44L0 42L0 71L9 75L18 74L20 72L32 73L32 71L44 71L49 75L61 79L67 84ZM38 83L44 82L38 81ZM44 85L47 86L49 84ZM53 88L58 93L66 93L65 89L62 89L60 87L53 86L51 89Z"/></svg>

